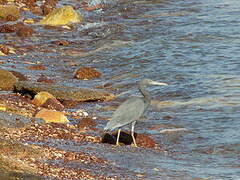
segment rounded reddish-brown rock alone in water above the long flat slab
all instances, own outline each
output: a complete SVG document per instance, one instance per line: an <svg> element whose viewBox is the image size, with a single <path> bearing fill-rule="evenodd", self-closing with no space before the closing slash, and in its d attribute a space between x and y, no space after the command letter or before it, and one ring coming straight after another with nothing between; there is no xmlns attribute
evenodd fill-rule
<svg viewBox="0 0 240 180"><path fill-rule="evenodd" d="M74 75L75 78L83 80L98 78L100 76L100 72L90 67L80 67Z"/></svg>

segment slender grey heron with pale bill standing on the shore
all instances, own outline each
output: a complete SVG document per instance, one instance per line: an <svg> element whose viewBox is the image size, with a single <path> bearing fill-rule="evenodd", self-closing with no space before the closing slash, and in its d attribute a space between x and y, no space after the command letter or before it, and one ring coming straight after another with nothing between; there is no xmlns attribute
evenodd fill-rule
<svg viewBox="0 0 240 180"><path fill-rule="evenodd" d="M151 102L150 93L145 90L145 88L149 85L167 86L168 84L153 81L151 79L142 79L139 82L139 91L142 93L143 97L131 97L123 102L113 113L112 118L104 128L104 131L112 131L118 128L116 141L117 146L119 146L121 127L131 123L131 136L134 146L137 147L134 137L134 126L136 121L139 120L140 116L147 110Z"/></svg>

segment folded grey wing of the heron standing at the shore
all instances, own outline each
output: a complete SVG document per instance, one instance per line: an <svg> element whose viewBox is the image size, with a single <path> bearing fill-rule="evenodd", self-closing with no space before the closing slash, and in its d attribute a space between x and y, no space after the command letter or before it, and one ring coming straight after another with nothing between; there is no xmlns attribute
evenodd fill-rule
<svg viewBox="0 0 240 180"><path fill-rule="evenodd" d="M144 101L142 98L133 97L122 103L113 113L111 120L107 123L105 130L113 130L139 119L144 112Z"/></svg>

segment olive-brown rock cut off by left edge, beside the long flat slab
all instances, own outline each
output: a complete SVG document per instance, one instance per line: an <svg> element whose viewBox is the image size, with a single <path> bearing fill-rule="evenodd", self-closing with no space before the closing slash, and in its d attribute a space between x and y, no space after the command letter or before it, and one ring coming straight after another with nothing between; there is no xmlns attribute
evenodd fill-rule
<svg viewBox="0 0 240 180"><path fill-rule="evenodd" d="M9 71L0 69L0 90L13 90L17 78Z"/></svg>

